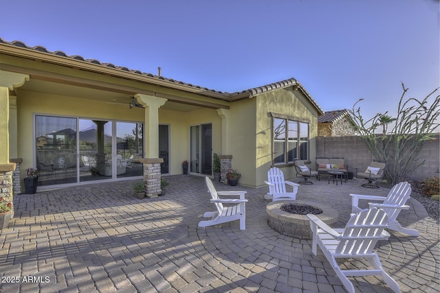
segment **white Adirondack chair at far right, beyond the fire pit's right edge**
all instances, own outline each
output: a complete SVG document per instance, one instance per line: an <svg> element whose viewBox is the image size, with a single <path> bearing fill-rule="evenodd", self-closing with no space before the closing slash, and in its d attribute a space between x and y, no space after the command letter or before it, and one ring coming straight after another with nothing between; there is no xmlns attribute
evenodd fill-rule
<svg viewBox="0 0 440 293"><path fill-rule="evenodd" d="M397 183L388 192L388 196L365 196L362 194L350 194L351 195L351 212L358 213L359 200L378 200L379 202L369 202L370 207L377 207L384 209L386 215L388 215L388 228L401 233L405 233L411 236L419 236L419 231L415 229L404 228L399 222L397 222L397 216L402 209L409 209L406 202L410 199L411 185L407 182Z"/></svg>

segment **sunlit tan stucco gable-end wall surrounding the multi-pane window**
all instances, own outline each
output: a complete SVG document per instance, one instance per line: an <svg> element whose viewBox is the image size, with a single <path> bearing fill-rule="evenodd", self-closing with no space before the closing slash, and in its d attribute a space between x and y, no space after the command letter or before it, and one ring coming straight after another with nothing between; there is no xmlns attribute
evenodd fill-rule
<svg viewBox="0 0 440 293"><path fill-rule="evenodd" d="M267 180L267 171L272 167L272 117L269 113L309 122L309 159L312 161L316 157L318 113L302 93L292 91L292 88L259 95L256 101L256 186L263 186L264 180ZM283 166L281 169L285 178L296 176L293 165Z"/></svg>

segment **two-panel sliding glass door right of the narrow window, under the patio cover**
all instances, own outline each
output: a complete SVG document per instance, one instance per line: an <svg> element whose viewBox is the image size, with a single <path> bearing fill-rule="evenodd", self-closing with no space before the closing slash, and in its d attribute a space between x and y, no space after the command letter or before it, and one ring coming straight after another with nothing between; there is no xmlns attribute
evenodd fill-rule
<svg viewBox="0 0 440 293"><path fill-rule="evenodd" d="M190 127L190 172L212 175L212 124Z"/></svg>

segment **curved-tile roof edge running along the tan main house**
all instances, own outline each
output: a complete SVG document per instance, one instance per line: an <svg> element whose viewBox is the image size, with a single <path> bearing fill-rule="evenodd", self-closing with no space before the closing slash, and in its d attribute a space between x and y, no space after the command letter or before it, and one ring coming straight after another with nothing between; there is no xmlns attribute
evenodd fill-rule
<svg viewBox="0 0 440 293"><path fill-rule="evenodd" d="M19 41L19 40L13 40L11 42L8 42L6 40L3 40L3 38L0 38L0 44L5 44L5 45L13 45L15 47L21 47L24 49L31 49L34 51L40 51L46 54L52 54L52 55L56 55L56 56L61 56L61 57L65 57L65 58L70 58L73 60L78 60L78 61L82 61L82 62L89 62L91 64L94 65L100 65L103 67L109 67L111 69L117 69L120 71L126 71L126 72L131 72L131 73L136 73L136 74L140 74L143 75L147 78L153 78L153 80L162 80L165 82L169 82L170 84L175 84L175 85L181 85L181 86L188 86L192 89L201 89L203 91L206 91L208 93L212 93L212 94L217 94L217 98L219 97L219 95L223 96L225 100L228 101L234 101L237 99L243 99L243 98L247 98L247 97L254 97L256 95L259 95L261 93L265 93L268 91L274 91L276 89L283 89L285 87L288 86L297 86L298 89L300 89L301 91L303 91L303 93L306 95L306 97L310 100L311 104L313 104L317 109L318 109L318 113L319 115L322 115L324 113L324 111L320 108L320 106L318 105L318 103L315 101L315 99L313 97L311 97L311 95L304 89L303 85L300 84L300 82L298 82L295 78L289 78L288 80L282 80L281 82L274 82L272 84L266 84L264 86L257 86L255 88L252 89L247 89L245 91L240 91L240 92L236 92L236 93L228 93L228 92L223 92L223 91L216 91L214 89L208 89L206 87L203 86L197 86L194 84L188 84L186 82L181 82L179 80L174 80L172 78L164 78L162 75L153 75L152 73L144 73L142 71L139 70L133 70L133 69L129 69L127 67L120 67L120 66L116 66L113 65L112 63L104 63L104 62L100 62L99 60L96 59L86 59L83 58L82 56L79 55L72 55L69 56L67 54L65 54L65 52L63 51L49 51L47 50L45 47L43 46L34 46L34 47L30 47L28 45L26 45L25 43Z"/></svg>

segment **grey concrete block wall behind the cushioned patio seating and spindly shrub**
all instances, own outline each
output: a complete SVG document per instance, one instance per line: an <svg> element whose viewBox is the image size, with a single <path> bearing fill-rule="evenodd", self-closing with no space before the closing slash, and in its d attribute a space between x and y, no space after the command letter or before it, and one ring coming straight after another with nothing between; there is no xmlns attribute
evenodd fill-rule
<svg viewBox="0 0 440 293"><path fill-rule="evenodd" d="M425 160L425 164L415 169L408 179L421 181L431 176L439 176L439 142L437 134L437 139L424 145L419 158ZM366 169L374 159L361 137L317 137L316 156L344 158L345 163L349 165L349 172L355 172L355 168ZM389 164L393 165L393 162Z"/></svg>

